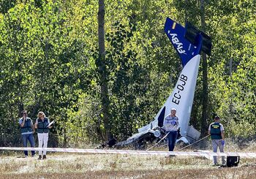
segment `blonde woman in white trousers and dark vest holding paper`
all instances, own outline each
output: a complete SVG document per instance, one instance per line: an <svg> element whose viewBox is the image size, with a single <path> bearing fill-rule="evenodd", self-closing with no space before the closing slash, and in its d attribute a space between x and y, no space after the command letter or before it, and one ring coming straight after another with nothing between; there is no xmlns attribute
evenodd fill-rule
<svg viewBox="0 0 256 179"><path fill-rule="evenodd" d="M51 128L49 124L49 118L45 117L45 113L40 111L37 115L36 123L34 124L35 128L37 129L38 148L43 148L43 150L39 150L39 160L46 159L45 148L48 146L49 129Z"/></svg>

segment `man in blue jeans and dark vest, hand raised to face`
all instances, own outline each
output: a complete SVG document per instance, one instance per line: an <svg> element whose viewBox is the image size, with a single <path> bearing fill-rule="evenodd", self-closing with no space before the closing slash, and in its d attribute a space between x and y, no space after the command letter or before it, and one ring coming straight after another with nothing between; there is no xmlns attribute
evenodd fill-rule
<svg viewBox="0 0 256 179"><path fill-rule="evenodd" d="M23 140L23 147L28 146L28 140L30 142L31 148L34 148L34 124L31 118L28 117L26 110L21 112L22 118L19 119L20 132ZM34 156L35 151L31 151L31 156ZM28 151L24 151L25 157L29 155Z"/></svg>

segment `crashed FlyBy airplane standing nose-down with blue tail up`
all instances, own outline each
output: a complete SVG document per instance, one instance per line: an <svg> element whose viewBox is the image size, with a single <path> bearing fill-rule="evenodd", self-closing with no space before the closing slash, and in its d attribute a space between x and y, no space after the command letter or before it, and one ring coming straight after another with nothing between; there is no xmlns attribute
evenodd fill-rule
<svg viewBox="0 0 256 179"><path fill-rule="evenodd" d="M176 115L179 119L179 138L176 142L191 143L200 137L200 132L193 126L189 126L189 118L195 94L200 52L203 51L203 53L210 55L211 38L189 22L184 28L170 18L166 19L165 33L175 47L183 66L176 86L155 116L154 121L138 129L138 134L116 143L115 147L133 144L140 148L148 141L161 140L165 136L165 131L162 129L163 122L171 108L176 108Z"/></svg>

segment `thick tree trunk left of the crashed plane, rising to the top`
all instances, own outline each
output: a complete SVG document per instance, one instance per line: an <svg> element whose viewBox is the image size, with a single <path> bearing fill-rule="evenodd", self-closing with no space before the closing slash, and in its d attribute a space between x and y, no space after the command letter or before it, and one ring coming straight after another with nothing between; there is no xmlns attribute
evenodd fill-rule
<svg viewBox="0 0 256 179"><path fill-rule="evenodd" d="M106 69L106 62L105 62L104 25L105 25L105 5L104 5L104 0L99 0L99 12L98 12L99 59L97 61L97 67L99 69L103 123L105 127L106 137L108 140L110 138L110 123L109 123L110 101L108 97L107 69Z"/></svg>

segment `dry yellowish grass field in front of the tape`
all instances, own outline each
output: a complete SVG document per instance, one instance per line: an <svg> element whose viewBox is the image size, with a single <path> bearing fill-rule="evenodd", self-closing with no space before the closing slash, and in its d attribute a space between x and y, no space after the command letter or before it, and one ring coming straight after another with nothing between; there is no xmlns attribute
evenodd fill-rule
<svg viewBox="0 0 256 179"><path fill-rule="evenodd" d="M254 143L239 152L255 152L255 147ZM234 148L227 146L226 151ZM2 153L0 178L256 178L256 159L241 159L238 167L227 168L190 156L48 153L48 159L38 161L37 156L22 155Z"/></svg>

